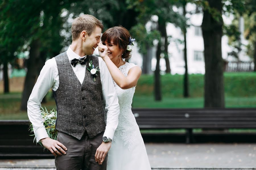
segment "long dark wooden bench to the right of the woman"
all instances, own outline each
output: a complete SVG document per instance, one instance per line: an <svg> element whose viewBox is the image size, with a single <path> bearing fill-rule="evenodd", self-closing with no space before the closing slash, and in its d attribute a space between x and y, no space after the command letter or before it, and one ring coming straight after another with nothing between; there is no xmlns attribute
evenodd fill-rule
<svg viewBox="0 0 256 170"><path fill-rule="evenodd" d="M256 128L256 109L133 109L133 114L141 130L186 129L186 143L195 142L195 128Z"/></svg>

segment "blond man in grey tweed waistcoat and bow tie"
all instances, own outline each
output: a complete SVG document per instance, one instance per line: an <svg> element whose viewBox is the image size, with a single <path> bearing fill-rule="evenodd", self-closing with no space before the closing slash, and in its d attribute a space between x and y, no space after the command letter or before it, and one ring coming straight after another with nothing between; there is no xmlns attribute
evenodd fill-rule
<svg viewBox="0 0 256 170"><path fill-rule="evenodd" d="M94 16L75 18L71 46L46 61L28 100L28 118L36 141L41 141L55 155L57 169L105 170L107 166L119 104L106 64L92 56L102 29L103 25ZM90 60L93 67L99 66L97 76L86 69L91 66ZM40 114L41 101L50 88L57 105L57 140L49 138Z"/></svg>

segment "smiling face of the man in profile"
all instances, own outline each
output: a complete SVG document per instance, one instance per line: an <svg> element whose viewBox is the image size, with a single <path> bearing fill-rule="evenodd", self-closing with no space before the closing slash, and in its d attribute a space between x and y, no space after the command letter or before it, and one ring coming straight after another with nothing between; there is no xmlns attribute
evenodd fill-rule
<svg viewBox="0 0 256 170"><path fill-rule="evenodd" d="M90 36L88 34L85 35L85 40L82 44L82 50L86 55L92 55L95 48L98 46L100 42L101 28L96 27Z"/></svg>

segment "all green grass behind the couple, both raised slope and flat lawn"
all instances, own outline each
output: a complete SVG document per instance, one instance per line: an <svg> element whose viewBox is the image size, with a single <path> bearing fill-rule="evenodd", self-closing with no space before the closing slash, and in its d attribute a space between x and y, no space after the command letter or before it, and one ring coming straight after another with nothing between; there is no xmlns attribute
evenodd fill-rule
<svg viewBox="0 0 256 170"><path fill-rule="evenodd" d="M256 108L256 73L224 73L225 107ZM133 98L133 108L203 108L204 75L189 75L189 98L183 98L183 75L161 76L162 101L154 101L154 76L142 75ZM0 93L0 119L28 119L20 111L21 92ZM47 94L48 110L56 108L51 92Z"/></svg>

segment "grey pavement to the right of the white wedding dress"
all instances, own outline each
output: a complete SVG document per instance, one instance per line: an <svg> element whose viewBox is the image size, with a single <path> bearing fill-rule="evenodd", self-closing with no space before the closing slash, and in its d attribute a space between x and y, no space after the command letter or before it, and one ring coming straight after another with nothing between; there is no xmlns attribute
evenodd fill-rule
<svg viewBox="0 0 256 170"><path fill-rule="evenodd" d="M148 144L151 167L254 167L256 144Z"/></svg>

